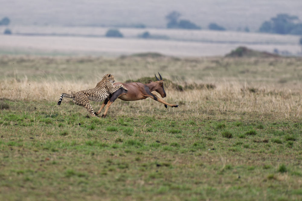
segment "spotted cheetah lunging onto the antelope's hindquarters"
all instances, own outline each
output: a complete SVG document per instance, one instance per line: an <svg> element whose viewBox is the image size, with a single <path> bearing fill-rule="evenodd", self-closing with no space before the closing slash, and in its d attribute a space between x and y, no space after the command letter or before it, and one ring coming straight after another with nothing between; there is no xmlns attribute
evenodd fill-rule
<svg viewBox="0 0 302 201"><path fill-rule="evenodd" d="M114 87L112 84L114 82L114 76L112 74L105 74L103 76L103 79L98 82L96 87L93 89L86 89L75 94L61 94L58 105L61 104L63 97L72 98L72 101L76 105L85 107L91 116L98 117L93 112L89 100L101 102L105 100L110 94L113 94L115 91L117 91L119 88L123 88L128 91L127 88L124 87L124 85L117 85Z"/></svg>

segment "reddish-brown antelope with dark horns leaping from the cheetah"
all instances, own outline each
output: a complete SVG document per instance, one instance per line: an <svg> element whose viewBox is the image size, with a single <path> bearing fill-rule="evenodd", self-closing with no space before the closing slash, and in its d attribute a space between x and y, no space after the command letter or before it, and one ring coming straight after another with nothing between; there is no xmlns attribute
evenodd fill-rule
<svg viewBox="0 0 302 201"><path fill-rule="evenodd" d="M155 75L155 77L156 77L156 75ZM125 101L134 101L134 100L143 100L143 99L146 99L147 97L150 97L153 100L156 100L156 101L164 104L165 108L167 108L168 105L170 107L178 107L178 105L166 103L158 95L151 93L151 91L156 91L157 93L159 93L162 96L162 98L167 96L165 89L164 89L164 85L163 85L163 82L165 80L162 80L162 76L160 74L159 74L159 78L160 79L158 79L156 77L156 79L157 79L156 82L150 81L150 83L148 83L148 84L143 84L140 82L132 82L129 84L121 83L121 82L114 83L113 84L114 86L120 85L120 84L124 85L128 89L128 91L124 90L123 88L119 88L117 91L115 91L113 94L111 94L111 97L109 96L107 99L105 99L105 101L101 105L101 108L98 110L98 112L95 112L95 114L98 115L99 113L101 113L101 110L105 107L105 105L107 105L105 112L102 115L102 117L105 117L107 115L110 105L117 98L119 98L121 100L125 100Z"/></svg>

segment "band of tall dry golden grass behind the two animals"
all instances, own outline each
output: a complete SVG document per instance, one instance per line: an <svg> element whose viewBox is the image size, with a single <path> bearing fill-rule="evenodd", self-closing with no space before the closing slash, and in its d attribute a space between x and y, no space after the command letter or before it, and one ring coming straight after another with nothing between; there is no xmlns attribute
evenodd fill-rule
<svg viewBox="0 0 302 201"><path fill-rule="evenodd" d="M61 93L75 93L77 91L93 88L95 82L71 82L71 81L29 81L27 79L2 80L1 96L10 100L25 101L58 101ZM251 88L245 83L221 82L214 89L193 89L177 91L172 88L165 89L167 97L165 101L171 104L179 104L178 108L168 108L176 116L216 116L217 118L249 118L258 116L259 119L300 119L302 114L300 86L293 85L291 88L275 88L262 86ZM61 107L71 99L64 98ZM97 111L101 103L91 101L94 110ZM127 115L127 105L148 110L163 110L163 105L151 100L125 102L117 100L111 106L119 109L119 113ZM83 110L76 106L75 110ZM135 111L137 112L137 111Z"/></svg>

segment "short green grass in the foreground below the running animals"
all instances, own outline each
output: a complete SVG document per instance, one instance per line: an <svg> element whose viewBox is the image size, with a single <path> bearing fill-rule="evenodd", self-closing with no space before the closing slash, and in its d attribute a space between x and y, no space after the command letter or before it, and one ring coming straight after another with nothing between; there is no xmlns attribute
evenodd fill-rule
<svg viewBox="0 0 302 201"><path fill-rule="evenodd" d="M96 119L56 115L55 104L0 110L1 200L302 198L300 126L290 120Z"/></svg>

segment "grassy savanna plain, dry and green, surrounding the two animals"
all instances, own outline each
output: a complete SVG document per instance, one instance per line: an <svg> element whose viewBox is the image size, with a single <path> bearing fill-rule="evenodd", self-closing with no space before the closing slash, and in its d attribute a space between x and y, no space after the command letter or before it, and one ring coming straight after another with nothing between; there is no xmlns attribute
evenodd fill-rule
<svg viewBox="0 0 302 201"><path fill-rule="evenodd" d="M1 55L0 65L0 200L302 199L302 58ZM157 72L178 108L118 99L98 119L71 99L56 105L105 73Z"/></svg>

